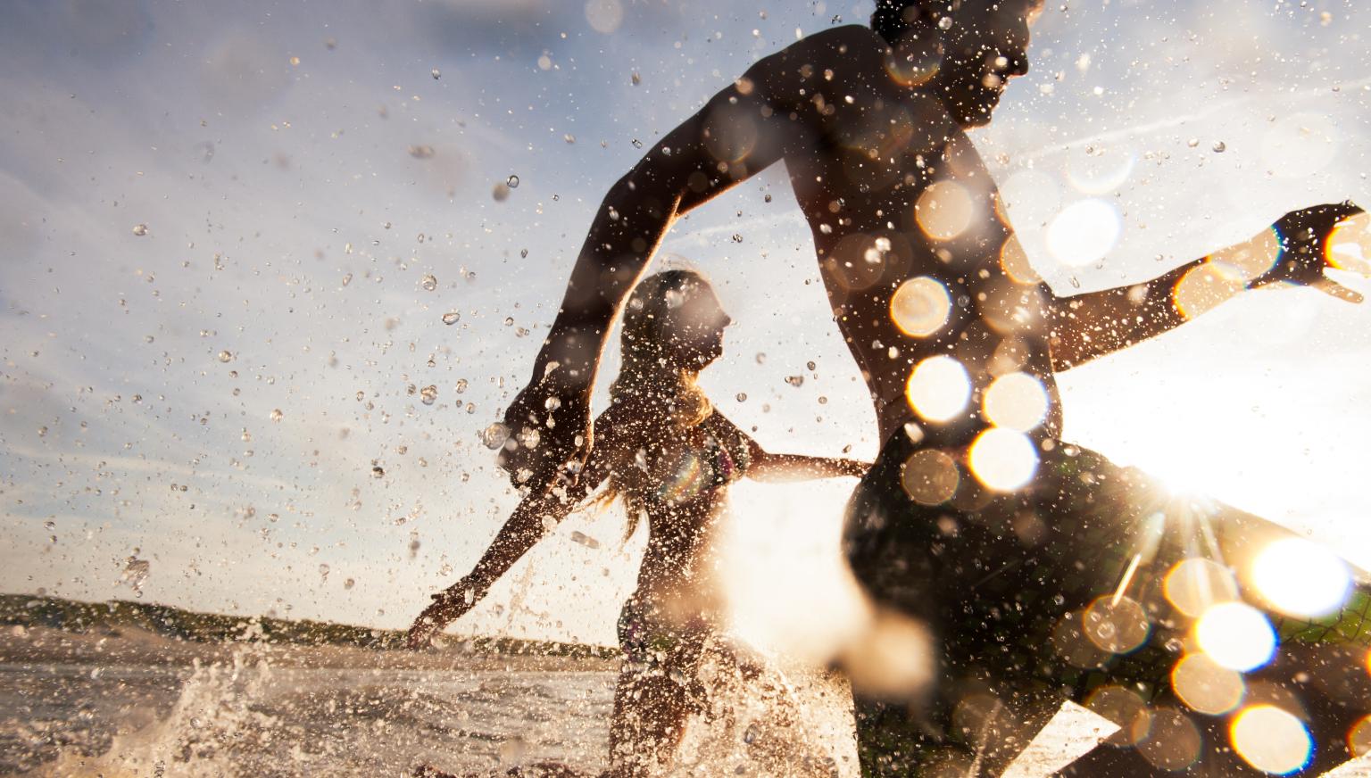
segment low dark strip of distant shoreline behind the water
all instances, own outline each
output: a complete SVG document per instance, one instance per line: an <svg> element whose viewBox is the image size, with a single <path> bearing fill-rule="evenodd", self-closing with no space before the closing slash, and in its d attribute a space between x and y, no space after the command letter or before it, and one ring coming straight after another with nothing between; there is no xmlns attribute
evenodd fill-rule
<svg viewBox="0 0 1371 778"><path fill-rule="evenodd" d="M74 645L96 641L106 645L108 638L144 634L156 636L175 644L202 644L204 647L273 647L273 648L325 648L350 649L345 653L391 655L393 659L407 657L402 664L424 664L422 657L432 659L570 659L607 660L618 656L616 648L603 645L568 644L555 641L531 641L510 637L477 637L469 640L448 638L447 647L432 652L404 651L404 631L381 630L355 625L317 622L308 619L278 619L270 616L230 616L186 611L155 603L129 600L108 600L86 603L63 597L36 594L0 594L0 626L11 627L7 640L0 645L0 656L22 659L15 653L15 640L30 630L38 633L59 631L82 640L69 641ZM104 642L101 642L104 638ZM186 645L185 648L192 648ZM19 655L25 653L22 651ZM47 652L43 652L47 653ZM66 652L59 652L66 653ZM178 653L178 652L173 652ZM199 653L199 652L195 652ZM34 657L36 659L36 657ZM170 659L170 657L169 657ZM343 659L339 656L339 659ZM381 659L376 656L372 659ZM592 662L594 663L594 662ZM389 664L388 662L385 664Z"/></svg>

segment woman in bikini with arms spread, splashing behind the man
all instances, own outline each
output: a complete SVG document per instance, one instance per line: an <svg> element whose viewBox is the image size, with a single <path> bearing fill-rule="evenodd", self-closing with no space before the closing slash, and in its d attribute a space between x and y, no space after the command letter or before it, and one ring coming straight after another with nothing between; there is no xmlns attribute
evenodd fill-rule
<svg viewBox="0 0 1371 778"><path fill-rule="evenodd" d="M668 760L686 716L702 707L696 668L721 616L707 582L709 537L728 485L743 475L860 477L868 468L851 459L769 453L714 410L696 379L723 353L729 323L699 274L668 270L644 278L628 300L622 367L610 408L595 421L595 448L581 477L525 497L472 573L435 594L410 627L410 645L426 645L602 484L592 501L624 501L625 538L646 514L638 588L618 619L624 666L610 725L611 775L639 775Z"/></svg>

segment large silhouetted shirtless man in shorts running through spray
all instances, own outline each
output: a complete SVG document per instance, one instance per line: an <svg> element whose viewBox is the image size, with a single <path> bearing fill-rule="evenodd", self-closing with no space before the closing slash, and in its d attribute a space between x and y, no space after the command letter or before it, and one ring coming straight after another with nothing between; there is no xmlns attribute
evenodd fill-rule
<svg viewBox="0 0 1371 778"><path fill-rule="evenodd" d="M877 604L928 625L939 656L935 689L917 700L858 693L864 773L997 774L1063 699L1098 703L1137 745L1100 748L1075 774L1250 770L1226 730L1231 708L1172 689L1196 614L1161 592L1197 548L1250 551L1275 530L1167 501L1139 474L1060 442L1053 373L1242 289L1285 281L1360 301L1323 275L1326 237L1360 210L1294 211L1148 284L1058 296L1028 267L965 134L1027 73L1041 10L879 0L871 27L829 29L757 62L668 133L606 194L532 381L506 412L515 434L502 464L531 489L576 477L594 442L600 351L662 236L784 160L884 441L849 505L845 549ZM1337 629L1342 645L1291 642L1249 677L1249 692L1308 722L1307 770L1350 756L1349 727L1371 699L1356 648L1371 633ZM1308 664L1327 673L1311 679Z"/></svg>

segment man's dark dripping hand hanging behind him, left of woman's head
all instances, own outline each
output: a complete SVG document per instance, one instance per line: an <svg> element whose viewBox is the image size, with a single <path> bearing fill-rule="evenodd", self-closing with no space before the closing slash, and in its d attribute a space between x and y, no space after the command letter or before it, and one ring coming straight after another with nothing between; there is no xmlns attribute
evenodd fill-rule
<svg viewBox="0 0 1371 778"><path fill-rule="evenodd" d="M505 411L505 429L488 430L485 440L499 448L496 463L514 486L543 492L558 475L576 481L591 451L588 394L558 386L544 375L514 397Z"/></svg>

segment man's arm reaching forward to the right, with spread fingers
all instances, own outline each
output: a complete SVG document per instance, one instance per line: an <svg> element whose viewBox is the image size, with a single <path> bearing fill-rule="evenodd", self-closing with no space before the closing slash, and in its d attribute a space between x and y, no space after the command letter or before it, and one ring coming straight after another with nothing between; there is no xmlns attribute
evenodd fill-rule
<svg viewBox="0 0 1371 778"><path fill-rule="evenodd" d="M1360 294L1324 277L1328 234L1338 222L1356 214L1361 208L1352 203L1291 211L1246 244L1145 284L1073 297L1049 292L1053 370L1068 370L1124 349L1169 331L1245 289L1282 281L1360 303Z"/></svg>

